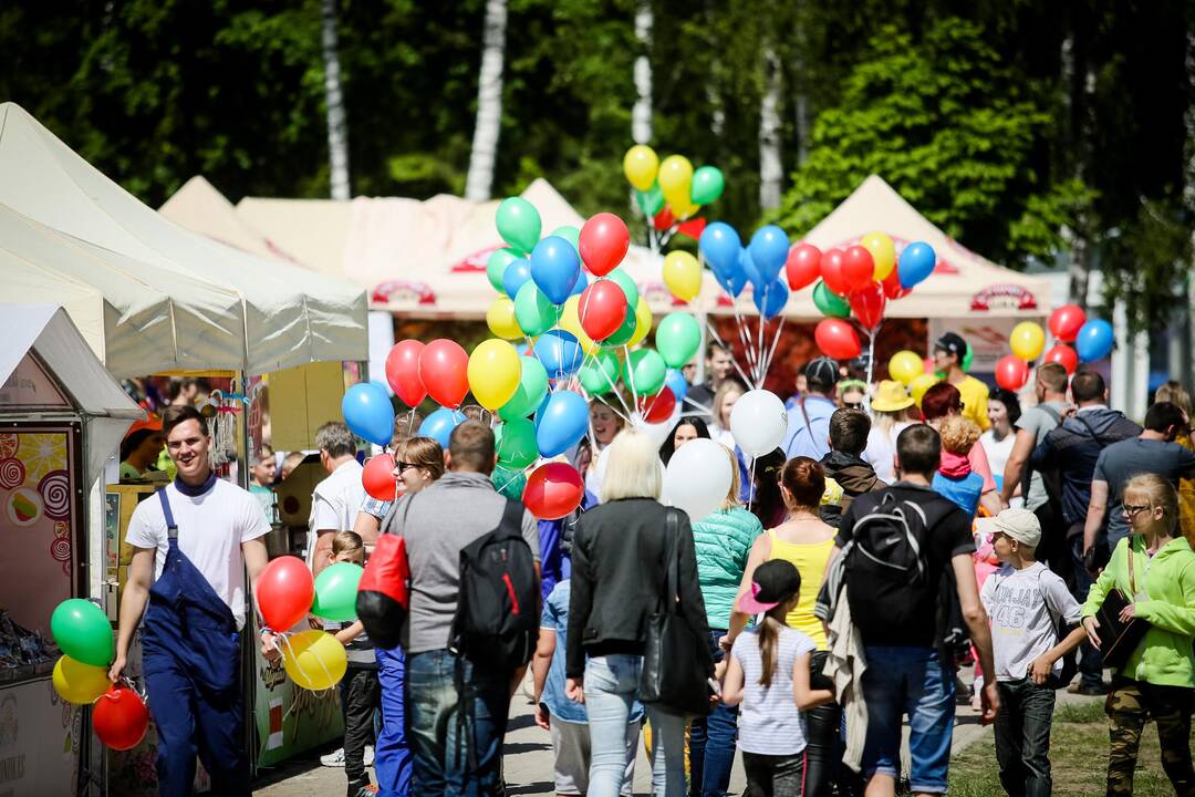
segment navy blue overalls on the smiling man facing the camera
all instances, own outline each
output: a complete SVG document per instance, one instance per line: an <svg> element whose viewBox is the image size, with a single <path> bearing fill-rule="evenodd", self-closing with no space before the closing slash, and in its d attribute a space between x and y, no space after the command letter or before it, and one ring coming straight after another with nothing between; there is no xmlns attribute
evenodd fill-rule
<svg viewBox="0 0 1195 797"><path fill-rule="evenodd" d="M237 620L178 550L166 491L159 490L158 498L170 548L141 626L149 713L158 727L158 793L191 795L197 753L212 775L213 793L247 797Z"/></svg>

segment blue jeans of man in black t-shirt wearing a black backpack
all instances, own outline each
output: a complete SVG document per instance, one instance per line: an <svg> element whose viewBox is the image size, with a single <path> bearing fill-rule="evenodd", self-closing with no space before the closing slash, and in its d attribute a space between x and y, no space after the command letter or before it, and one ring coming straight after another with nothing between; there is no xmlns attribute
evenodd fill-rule
<svg viewBox="0 0 1195 797"><path fill-rule="evenodd" d="M908 715L909 785L914 792L946 791L955 724L955 678L933 648L866 645L863 699L868 741L863 774L895 778L900 770L901 717Z"/></svg>

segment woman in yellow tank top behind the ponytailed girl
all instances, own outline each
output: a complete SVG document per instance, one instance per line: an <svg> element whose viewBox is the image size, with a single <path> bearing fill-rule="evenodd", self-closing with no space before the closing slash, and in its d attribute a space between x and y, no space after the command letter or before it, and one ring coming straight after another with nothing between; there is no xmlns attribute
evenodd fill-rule
<svg viewBox="0 0 1195 797"><path fill-rule="evenodd" d="M760 534L747 558L747 569L740 586L740 595L752 588L755 568L770 559L791 562L801 574L801 591L796 608L786 617L786 625L801 631L817 645L809 661L810 686L829 688L829 680L822 674L826 663L826 629L814 617L814 602L826 578L826 565L834 550L834 528L822 522L817 508L826 490L826 473L822 466L808 456L797 456L780 470L780 493L789 510L788 519ZM737 606L739 601L735 601ZM747 626L750 618L742 612L730 615L730 631L722 639L722 646L730 650L735 638ZM805 760L805 797L826 797L836 779L839 750L839 727L842 710L836 703L828 703L804 711L808 747Z"/></svg>

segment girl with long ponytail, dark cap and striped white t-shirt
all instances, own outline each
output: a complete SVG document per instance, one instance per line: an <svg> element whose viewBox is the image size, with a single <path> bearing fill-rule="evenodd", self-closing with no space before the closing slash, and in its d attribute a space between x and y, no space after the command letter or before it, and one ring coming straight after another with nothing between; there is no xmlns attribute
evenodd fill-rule
<svg viewBox="0 0 1195 797"><path fill-rule="evenodd" d="M784 559L755 569L750 591L739 599L764 621L739 634L730 649L722 701L740 705L739 749L748 791L755 797L799 795L804 784L805 731L801 709L831 703L829 689L809 687L813 640L785 625L801 593L801 574Z"/></svg>

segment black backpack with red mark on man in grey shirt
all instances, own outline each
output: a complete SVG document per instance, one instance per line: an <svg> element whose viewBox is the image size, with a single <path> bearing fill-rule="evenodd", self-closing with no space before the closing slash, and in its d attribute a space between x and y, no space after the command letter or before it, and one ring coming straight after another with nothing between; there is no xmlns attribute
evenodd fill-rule
<svg viewBox="0 0 1195 797"><path fill-rule="evenodd" d="M451 645L491 670L529 662L539 634L539 583L522 514L521 503L507 501L498 527L460 551Z"/></svg>

